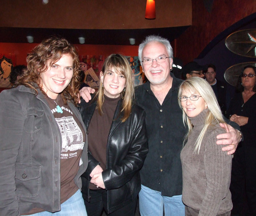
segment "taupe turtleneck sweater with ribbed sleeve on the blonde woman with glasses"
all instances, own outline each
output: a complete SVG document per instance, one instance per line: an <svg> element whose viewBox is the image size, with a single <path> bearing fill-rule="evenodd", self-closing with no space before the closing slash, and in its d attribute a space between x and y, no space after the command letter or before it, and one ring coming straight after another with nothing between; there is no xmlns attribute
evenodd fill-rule
<svg viewBox="0 0 256 216"><path fill-rule="evenodd" d="M216 144L216 136L225 133L216 120L208 127L199 154L193 153L208 112L205 109L189 118L194 127L180 153L182 201L190 208L199 210L199 215L216 216L233 207L229 191L232 155L221 150L223 145Z"/></svg>

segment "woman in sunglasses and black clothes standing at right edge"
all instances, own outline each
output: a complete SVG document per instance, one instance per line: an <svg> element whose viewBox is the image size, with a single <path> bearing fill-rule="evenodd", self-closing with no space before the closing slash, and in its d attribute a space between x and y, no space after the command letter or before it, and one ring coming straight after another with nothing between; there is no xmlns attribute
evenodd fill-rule
<svg viewBox="0 0 256 216"><path fill-rule="evenodd" d="M244 135L232 162L230 190L232 213L244 211L246 194L248 215L256 215L256 67L246 66L239 76L237 94L231 100L227 111L230 121L239 124ZM247 214L246 214L247 215Z"/></svg>

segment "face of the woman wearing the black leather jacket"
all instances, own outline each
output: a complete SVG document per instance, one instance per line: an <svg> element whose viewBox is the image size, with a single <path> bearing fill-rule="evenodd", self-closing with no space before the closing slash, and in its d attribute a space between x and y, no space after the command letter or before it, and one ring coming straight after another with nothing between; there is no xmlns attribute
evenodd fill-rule
<svg viewBox="0 0 256 216"><path fill-rule="evenodd" d="M105 72L100 72L100 79L104 86L104 94L109 98L117 98L124 90L126 79L124 75L119 71L115 71L113 68Z"/></svg>

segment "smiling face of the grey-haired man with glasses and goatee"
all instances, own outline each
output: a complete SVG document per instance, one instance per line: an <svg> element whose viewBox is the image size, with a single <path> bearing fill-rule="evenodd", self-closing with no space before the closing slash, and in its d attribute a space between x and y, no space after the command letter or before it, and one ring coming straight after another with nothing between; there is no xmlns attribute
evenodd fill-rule
<svg viewBox="0 0 256 216"><path fill-rule="evenodd" d="M167 49L162 43L150 42L142 50L142 60L155 59L160 56L169 57ZM142 63L142 69L151 85L162 85L171 79L172 59L166 58L163 63L157 63L156 60L153 60L152 64L149 65Z"/></svg>

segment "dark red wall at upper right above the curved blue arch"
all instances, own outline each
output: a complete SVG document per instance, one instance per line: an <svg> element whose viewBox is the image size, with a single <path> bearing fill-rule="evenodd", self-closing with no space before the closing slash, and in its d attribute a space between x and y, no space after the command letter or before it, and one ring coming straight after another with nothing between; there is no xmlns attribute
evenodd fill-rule
<svg viewBox="0 0 256 216"><path fill-rule="evenodd" d="M176 57L193 61L217 35L255 12L255 0L214 0L210 13L203 1L192 0L192 26L177 39Z"/></svg>

